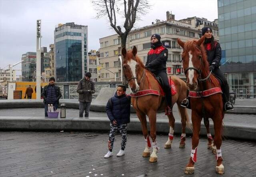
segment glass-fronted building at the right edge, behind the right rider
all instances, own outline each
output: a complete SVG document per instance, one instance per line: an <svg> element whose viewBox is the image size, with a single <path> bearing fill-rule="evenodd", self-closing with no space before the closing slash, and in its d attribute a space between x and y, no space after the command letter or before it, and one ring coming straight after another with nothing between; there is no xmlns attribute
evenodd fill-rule
<svg viewBox="0 0 256 177"><path fill-rule="evenodd" d="M256 97L256 0L218 0L222 66L230 90Z"/></svg>

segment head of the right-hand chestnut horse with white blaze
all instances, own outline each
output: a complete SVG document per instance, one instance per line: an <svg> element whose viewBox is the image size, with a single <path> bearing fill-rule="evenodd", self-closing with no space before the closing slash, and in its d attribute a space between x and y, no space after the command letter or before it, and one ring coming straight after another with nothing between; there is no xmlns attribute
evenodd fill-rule
<svg viewBox="0 0 256 177"><path fill-rule="evenodd" d="M190 91L194 91L198 86L198 78L201 77L202 53L200 45L204 41L204 36L198 41L182 42L179 38L178 44L184 49L182 53L182 63L186 74L186 84Z"/></svg>

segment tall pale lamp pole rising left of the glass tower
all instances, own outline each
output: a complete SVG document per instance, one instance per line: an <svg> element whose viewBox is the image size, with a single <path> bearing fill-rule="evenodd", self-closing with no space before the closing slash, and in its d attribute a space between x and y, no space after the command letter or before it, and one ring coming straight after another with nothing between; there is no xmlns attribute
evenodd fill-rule
<svg viewBox="0 0 256 177"><path fill-rule="evenodd" d="M40 42L40 43L39 43ZM41 99L41 20L36 20L36 99Z"/></svg>

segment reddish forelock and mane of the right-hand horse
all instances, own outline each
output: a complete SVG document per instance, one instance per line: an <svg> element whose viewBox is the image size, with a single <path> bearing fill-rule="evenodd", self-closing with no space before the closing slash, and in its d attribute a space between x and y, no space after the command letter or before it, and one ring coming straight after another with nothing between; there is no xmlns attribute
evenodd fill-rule
<svg viewBox="0 0 256 177"><path fill-rule="evenodd" d="M197 48L197 47L198 46L196 45L196 40L187 41L184 44L184 49L186 51L194 51L195 48ZM202 62L203 62L203 66L204 66L204 68L201 68L201 69L202 69L202 72L205 72L205 74L207 75L209 73L209 70L208 70L209 63L208 63L208 60L207 60L207 54L206 54L206 51L205 51L204 46L202 44L198 48L201 50Z"/></svg>

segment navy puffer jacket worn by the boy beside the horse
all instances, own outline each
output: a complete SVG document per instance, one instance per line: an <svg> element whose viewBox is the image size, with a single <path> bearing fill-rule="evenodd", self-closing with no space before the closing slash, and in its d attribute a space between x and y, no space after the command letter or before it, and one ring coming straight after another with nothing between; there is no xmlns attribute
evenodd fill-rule
<svg viewBox="0 0 256 177"><path fill-rule="evenodd" d="M110 103L111 101L111 103ZM130 110L131 110L131 97L124 94L118 96L117 93L114 97L108 100L106 105L106 113L108 118L112 122L114 119L117 125L122 125L130 122Z"/></svg>

